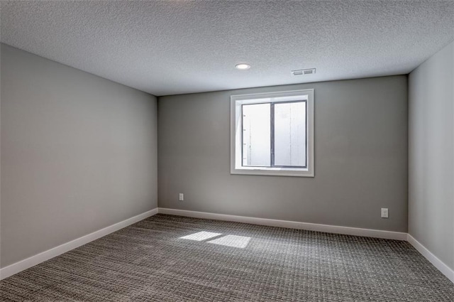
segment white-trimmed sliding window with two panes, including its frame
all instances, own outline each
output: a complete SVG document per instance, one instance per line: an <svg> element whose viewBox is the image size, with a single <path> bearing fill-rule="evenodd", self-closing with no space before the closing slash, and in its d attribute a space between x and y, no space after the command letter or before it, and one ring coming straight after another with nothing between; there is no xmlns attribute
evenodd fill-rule
<svg viewBox="0 0 454 302"><path fill-rule="evenodd" d="M314 90L231 96L231 173L314 176Z"/></svg>

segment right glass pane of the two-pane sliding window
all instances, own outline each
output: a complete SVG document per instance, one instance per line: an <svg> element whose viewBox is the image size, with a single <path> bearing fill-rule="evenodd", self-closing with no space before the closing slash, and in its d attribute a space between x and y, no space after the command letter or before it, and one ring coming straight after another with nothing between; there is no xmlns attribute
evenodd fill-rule
<svg viewBox="0 0 454 302"><path fill-rule="evenodd" d="M306 166L306 102L275 104L275 166Z"/></svg>

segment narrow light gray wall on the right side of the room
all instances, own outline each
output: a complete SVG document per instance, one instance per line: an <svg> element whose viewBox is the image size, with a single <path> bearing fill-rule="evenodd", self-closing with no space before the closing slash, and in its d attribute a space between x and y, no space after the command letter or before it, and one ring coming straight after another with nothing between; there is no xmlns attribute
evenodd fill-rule
<svg viewBox="0 0 454 302"><path fill-rule="evenodd" d="M409 75L409 234L454 269L454 43Z"/></svg>

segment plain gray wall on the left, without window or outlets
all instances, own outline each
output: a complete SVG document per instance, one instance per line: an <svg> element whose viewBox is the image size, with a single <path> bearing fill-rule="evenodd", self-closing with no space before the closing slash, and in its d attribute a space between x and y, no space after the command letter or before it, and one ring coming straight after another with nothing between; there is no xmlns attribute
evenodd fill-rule
<svg viewBox="0 0 454 302"><path fill-rule="evenodd" d="M1 45L1 266L157 207L156 109Z"/></svg>

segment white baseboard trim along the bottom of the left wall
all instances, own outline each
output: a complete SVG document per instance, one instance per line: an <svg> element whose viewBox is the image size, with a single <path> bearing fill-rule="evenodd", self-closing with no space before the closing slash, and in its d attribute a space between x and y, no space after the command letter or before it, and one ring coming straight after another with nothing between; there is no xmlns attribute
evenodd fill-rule
<svg viewBox="0 0 454 302"><path fill-rule="evenodd" d="M76 247L80 247L81 245L92 242L93 240L104 237L107 234L111 234L112 232L121 230L121 229L123 229L123 227L127 227L128 225L132 225L135 222L139 222L140 220L144 220L145 218L156 215L156 214L157 214L157 208L155 208L153 210L149 210L147 212L143 212L142 214L128 218L121 222L117 222L114 225L109 225L109 227L104 227L104 229L97 230L96 232L92 232L85 236L74 239L70 242L66 242L57 247L53 247L52 249L48 249L45 252L36 254L35 256L29 257L27 259L23 259L21 261L13 263L9 266L5 266L4 268L0 269L0 280L8 278L9 276L12 276L13 274L17 274L20 271L31 268L32 266L40 264L41 262L47 261L49 259L52 259L53 257L57 257L63 253L69 252L70 250L75 249Z"/></svg>

